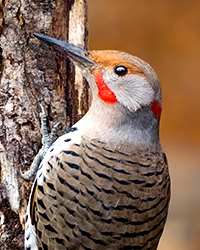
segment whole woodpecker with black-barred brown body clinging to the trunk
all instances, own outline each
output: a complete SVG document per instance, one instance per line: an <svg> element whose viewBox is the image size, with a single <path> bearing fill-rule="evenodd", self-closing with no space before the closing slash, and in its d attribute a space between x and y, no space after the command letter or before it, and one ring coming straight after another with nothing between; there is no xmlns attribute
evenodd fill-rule
<svg viewBox="0 0 200 250"><path fill-rule="evenodd" d="M34 36L82 69L92 103L39 166L25 249L157 249L170 175L159 139L162 96L155 71L126 52L87 51Z"/></svg>

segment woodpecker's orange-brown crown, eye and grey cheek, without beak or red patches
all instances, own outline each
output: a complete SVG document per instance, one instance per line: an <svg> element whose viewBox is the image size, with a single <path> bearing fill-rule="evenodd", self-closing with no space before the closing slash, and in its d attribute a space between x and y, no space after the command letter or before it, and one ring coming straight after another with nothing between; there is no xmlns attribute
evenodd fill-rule
<svg viewBox="0 0 200 250"><path fill-rule="evenodd" d="M161 106L160 84L149 64L120 51L92 51L91 58L117 101L128 110L134 112L141 107L151 106L154 100ZM116 68L119 68L119 72L116 72ZM94 75L96 71L93 71Z"/></svg>

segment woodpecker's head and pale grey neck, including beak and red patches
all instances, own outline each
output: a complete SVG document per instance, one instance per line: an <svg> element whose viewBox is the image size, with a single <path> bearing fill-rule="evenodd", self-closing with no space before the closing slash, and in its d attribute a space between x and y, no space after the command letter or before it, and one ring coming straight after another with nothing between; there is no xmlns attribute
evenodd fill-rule
<svg viewBox="0 0 200 250"><path fill-rule="evenodd" d="M112 127L112 133L115 130L113 128L117 128L117 133L120 128L123 131L121 134L125 134L128 127L131 127L130 132L126 136L123 135L126 139L133 134L132 140L136 140L142 134L146 143L148 134L149 138L151 137L149 141L157 141L159 144L158 128L162 111L161 87L155 71L148 63L121 51L88 52L68 42L48 36L34 35L47 45L69 56L85 71L84 74L93 94L89 113L90 118L95 115L95 118L90 120L95 123L95 130L97 130L98 123L99 127L101 126L99 131L103 129L108 131ZM102 122L104 116L105 124ZM125 126L124 124L131 125Z"/></svg>

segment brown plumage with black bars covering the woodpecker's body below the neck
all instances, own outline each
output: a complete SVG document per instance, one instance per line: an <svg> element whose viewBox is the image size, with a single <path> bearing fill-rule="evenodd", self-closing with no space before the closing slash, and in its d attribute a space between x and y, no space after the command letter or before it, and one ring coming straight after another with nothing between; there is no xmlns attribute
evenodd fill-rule
<svg viewBox="0 0 200 250"><path fill-rule="evenodd" d="M47 162L34 201L40 249L156 249L166 221L164 153L83 139Z"/></svg>

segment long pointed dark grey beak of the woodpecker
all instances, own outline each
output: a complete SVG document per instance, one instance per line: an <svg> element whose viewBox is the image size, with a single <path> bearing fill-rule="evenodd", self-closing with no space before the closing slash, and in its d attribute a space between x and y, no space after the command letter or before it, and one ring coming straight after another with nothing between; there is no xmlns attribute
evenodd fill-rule
<svg viewBox="0 0 200 250"><path fill-rule="evenodd" d="M89 56L91 55L87 50L84 50L72 43L68 43L49 36L44 36L36 33L34 33L33 35L48 46L53 47L55 50L67 54L67 56L77 62L80 66L89 68L91 68L92 66L97 66L97 64L89 58Z"/></svg>

